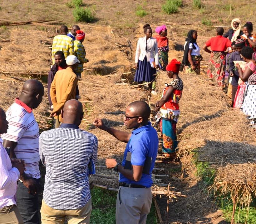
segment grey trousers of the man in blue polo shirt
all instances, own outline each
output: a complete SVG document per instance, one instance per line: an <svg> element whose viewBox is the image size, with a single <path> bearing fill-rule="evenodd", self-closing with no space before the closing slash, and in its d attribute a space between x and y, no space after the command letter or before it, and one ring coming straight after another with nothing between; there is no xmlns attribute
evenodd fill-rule
<svg viewBox="0 0 256 224"><path fill-rule="evenodd" d="M151 188L119 187L116 199L116 224L146 224L151 202Z"/></svg>

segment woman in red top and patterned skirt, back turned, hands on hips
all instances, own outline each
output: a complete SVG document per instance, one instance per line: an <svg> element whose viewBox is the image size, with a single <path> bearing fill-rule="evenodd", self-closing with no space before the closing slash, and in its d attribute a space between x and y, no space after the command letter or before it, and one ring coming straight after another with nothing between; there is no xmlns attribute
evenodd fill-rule
<svg viewBox="0 0 256 224"><path fill-rule="evenodd" d="M211 54L207 75L212 79L215 77L218 86L223 86L226 67L225 50L231 47L231 41L222 36L224 33L222 27L217 27L216 31L216 36L208 40L204 44L203 49ZM208 47L211 47L211 50L209 50Z"/></svg>

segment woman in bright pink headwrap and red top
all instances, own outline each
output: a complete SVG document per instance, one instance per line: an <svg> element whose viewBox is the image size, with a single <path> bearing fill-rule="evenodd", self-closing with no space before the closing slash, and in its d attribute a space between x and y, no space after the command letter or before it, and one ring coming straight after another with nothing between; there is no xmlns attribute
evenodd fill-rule
<svg viewBox="0 0 256 224"><path fill-rule="evenodd" d="M161 70L165 71L165 68L168 64L168 51L169 51L169 40L167 36L167 28L165 25L157 26L155 32L158 35L155 35L157 46L158 46L158 56L159 56L159 67Z"/></svg>

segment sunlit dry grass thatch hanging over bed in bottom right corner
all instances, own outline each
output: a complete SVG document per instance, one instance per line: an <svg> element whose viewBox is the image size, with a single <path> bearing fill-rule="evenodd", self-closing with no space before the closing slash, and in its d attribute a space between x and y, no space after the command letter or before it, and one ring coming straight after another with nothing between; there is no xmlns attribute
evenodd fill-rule
<svg viewBox="0 0 256 224"><path fill-rule="evenodd" d="M253 197L256 196L256 164L228 164L224 168L220 168L213 187L221 195L231 195L233 201L231 224L234 221L234 212L238 203L242 207L247 207L248 217L249 205Z"/></svg>

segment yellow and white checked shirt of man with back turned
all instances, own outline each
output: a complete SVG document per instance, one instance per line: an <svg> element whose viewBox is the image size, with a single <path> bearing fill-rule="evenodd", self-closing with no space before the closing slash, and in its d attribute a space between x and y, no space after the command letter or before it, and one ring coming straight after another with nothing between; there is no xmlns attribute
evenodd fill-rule
<svg viewBox="0 0 256 224"><path fill-rule="evenodd" d="M57 35L53 38L52 42L52 64L55 63L54 54L57 51L62 51L65 58L68 55L74 54L74 41L71 37L67 35Z"/></svg>

